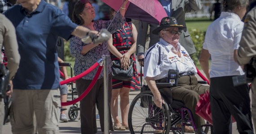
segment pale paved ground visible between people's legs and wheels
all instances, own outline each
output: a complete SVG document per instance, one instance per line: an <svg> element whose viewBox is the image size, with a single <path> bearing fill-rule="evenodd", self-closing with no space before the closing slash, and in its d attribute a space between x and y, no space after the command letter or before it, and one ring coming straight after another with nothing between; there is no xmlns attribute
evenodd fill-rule
<svg viewBox="0 0 256 134"><path fill-rule="evenodd" d="M199 79L201 80L201 79ZM140 91L133 91L133 92L130 92L130 103L132 102L133 98L138 94L140 93ZM68 96L68 100L71 100L71 95ZM69 108L69 107L67 107ZM66 110L66 116L68 115L67 114L68 110ZM80 111L79 111L80 113ZM119 109L119 118L121 119L120 117L120 109ZM97 120L97 126L98 126L98 132L97 134L102 134L101 133L101 129L100 129L100 123L99 123L99 120ZM232 125L232 134L239 134L238 133L238 130L237 130L237 127L236 127L236 123L233 123ZM75 120L75 121L69 121L67 123L65 122L60 122L59 123L59 134L80 134L80 120L79 120L79 115L78 115L78 118ZM114 132L111 132L112 134L130 134L129 130L125 130L125 131L114 131ZM3 133L2 134L11 134L11 126L10 124L6 124L3 126ZM172 134L170 132L170 134ZM208 133L210 134L210 132Z"/></svg>

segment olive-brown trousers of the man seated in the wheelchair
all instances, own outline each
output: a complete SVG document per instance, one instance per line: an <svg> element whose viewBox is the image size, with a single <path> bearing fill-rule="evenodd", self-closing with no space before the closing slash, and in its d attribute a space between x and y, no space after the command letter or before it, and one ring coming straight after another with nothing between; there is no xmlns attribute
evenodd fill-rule
<svg viewBox="0 0 256 134"><path fill-rule="evenodd" d="M160 92L165 98L167 98L169 90L170 88L162 88L160 89ZM205 93L206 90L209 91L209 87L198 84L197 78L194 75L190 75L181 76L179 78L179 86L173 87L171 90L173 100L180 100L184 102L185 107L190 109L194 118L195 126L199 128L204 125L205 121L195 113L195 107L199 101L199 95Z"/></svg>

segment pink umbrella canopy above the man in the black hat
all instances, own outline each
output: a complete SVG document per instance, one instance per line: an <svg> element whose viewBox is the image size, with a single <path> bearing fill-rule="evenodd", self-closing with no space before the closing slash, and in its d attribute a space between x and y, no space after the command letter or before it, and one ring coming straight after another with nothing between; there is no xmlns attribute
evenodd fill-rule
<svg viewBox="0 0 256 134"><path fill-rule="evenodd" d="M116 11L119 10L122 0L102 0ZM167 17L163 6L158 0L128 0L124 17L159 24L163 17Z"/></svg>

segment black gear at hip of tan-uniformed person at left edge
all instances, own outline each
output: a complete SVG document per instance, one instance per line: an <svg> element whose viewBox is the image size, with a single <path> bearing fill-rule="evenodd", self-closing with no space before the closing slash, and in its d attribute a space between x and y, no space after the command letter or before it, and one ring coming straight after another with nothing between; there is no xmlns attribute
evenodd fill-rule
<svg viewBox="0 0 256 134"><path fill-rule="evenodd" d="M0 98L4 98L9 84L9 70L0 64Z"/></svg>

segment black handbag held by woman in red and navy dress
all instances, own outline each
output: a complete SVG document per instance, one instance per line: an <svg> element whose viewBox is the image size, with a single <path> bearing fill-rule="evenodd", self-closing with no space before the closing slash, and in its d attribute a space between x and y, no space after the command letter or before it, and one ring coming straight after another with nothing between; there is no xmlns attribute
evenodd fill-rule
<svg viewBox="0 0 256 134"><path fill-rule="evenodd" d="M130 59L129 68L124 70L121 68L120 60L113 60L112 61L112 78L116 80L131 80L133 76L133 59Z"/></svg>

